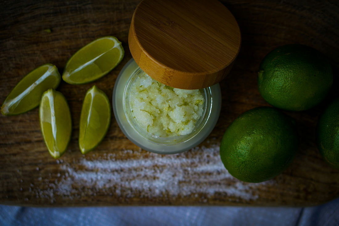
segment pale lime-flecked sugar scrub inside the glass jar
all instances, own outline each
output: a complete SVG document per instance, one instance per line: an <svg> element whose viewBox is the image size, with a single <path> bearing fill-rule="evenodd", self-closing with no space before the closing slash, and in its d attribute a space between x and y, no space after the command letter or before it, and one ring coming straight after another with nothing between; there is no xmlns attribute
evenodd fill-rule
<svg viewBox="0 0 339 226"><path fill-rule="evenodd" d="M203 114L200 90L182 90L141 73L129 93L132 114L139 126L155 136L186 135Z"/></svg>

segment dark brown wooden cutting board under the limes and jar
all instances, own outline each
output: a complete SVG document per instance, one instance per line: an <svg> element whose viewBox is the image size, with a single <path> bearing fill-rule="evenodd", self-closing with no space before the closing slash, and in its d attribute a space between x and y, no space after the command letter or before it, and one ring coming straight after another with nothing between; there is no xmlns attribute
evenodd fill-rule
<svg viewBox="0 0 339 226"><path fill-rule="evenodd" d="M43 142L38 109L0 115L0 203L29 206L251 205L310 206L339 196L339 171L327 166L315 144L315 126L338 96L338 1L222 1L237 19L242 45L230 74L220 82L217 126L198 147L175 155L141 150L121 132L112 115L96 150L78 148L79 115L94 84L112 100L115 80L131 59L128 29L139 1L4 1L0 10L0 103L28 72L44 63L62 73L85 44L105 35L123 43L125 57L112 72L84 85L62 82L73 134L66 153L52 158ZM257 70L272 49L287 43L312 46L330 58L333 90L314 109L286 112L298 123L300 150L290 167L270 181L251 184L232 177L219 157L221 137L241 113L268 106L257 89Z"/></svg>

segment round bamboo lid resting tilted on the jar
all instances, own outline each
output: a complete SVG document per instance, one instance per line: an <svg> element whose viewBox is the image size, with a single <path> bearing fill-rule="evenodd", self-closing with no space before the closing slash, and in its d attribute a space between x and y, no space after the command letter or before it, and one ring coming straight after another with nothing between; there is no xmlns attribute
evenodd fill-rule
<svg viewBox="0 0 339 226"><path fill-rule="evenodd" d="M143 0L134 11L129 49L157 81L201 89L221 81L237 57L237 21L217 0Z"/></svg>

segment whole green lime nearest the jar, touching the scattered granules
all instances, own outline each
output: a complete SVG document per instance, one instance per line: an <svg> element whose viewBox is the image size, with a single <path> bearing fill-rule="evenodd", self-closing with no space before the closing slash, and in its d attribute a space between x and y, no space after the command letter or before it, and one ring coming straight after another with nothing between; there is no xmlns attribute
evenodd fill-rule
<svg viewBox="0 0 339 226"><path fill-rule="evenodd" d="M294 120L272 107L246 111L226 129L221 140L221 161L234 177L262 182L291 163L299 146Z"/></svg>

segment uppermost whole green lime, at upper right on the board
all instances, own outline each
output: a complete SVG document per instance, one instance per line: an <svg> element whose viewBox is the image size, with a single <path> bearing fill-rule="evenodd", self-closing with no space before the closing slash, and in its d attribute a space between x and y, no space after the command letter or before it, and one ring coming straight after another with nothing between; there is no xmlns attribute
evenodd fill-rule
<svg viewBox="0 0 339 226"><path fill-rule="evenodd" d="M261 96L272 106L303 111L320 103L333 83L329 61L301 44L280 46L262 60L258 72Z"/></svg>

